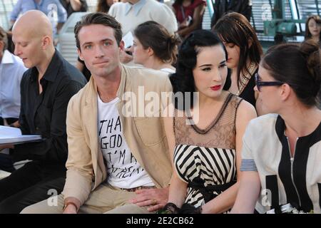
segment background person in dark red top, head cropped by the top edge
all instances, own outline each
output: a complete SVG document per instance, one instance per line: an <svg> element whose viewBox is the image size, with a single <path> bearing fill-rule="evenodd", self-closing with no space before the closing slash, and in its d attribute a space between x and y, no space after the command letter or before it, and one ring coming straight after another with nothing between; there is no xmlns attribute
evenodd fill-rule
<svg viewBox="0 0 321 228"><path fill-rule="evenodd" d="M202 28L205 7L205 0L175 0L173 10L179 24L177 33L181 38Z"/></svg>

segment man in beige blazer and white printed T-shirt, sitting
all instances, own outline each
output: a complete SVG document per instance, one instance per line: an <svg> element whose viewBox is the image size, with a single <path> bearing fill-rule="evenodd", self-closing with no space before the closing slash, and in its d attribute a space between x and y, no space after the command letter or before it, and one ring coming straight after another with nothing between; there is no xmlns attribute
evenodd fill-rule
<svg viewBox="0 0 321 228"><path fill-rule="evenodd" d="M86 15L75 35L92 76L68 104L66 185L22 213L155 212L167 202L172 175L161 117L168 76L121 65L121 25L112 16ZM151 108L151 97L161 102Z"/></svg>

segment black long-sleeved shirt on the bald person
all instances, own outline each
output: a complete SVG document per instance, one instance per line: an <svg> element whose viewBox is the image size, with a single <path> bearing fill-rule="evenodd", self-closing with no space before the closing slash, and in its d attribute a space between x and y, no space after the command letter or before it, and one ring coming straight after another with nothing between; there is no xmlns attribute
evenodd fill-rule
<svg viewBox="0 0 321 228"><path fill-rule="evenodd" d="M68 147L66 111L70 98L86 84L86 78L68 63L58 51L41 78L30 68L21 79L21 111L19 122L26 135L41 135L41 142L15 145L14 161L38 160L46 165L65 165Z"/></svg>

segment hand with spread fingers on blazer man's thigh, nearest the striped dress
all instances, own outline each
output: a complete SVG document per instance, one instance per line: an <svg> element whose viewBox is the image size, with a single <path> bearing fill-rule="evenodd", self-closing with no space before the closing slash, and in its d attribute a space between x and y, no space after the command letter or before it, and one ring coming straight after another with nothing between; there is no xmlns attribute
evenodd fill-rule
<svg viewBox="0 0 321 228"><path fill-rule="evenodd" d="M163 208L168 201L168 187L137 190L135 193L136 197L129 202L140 207L150 206L148 207L149 212Z"/></svg>

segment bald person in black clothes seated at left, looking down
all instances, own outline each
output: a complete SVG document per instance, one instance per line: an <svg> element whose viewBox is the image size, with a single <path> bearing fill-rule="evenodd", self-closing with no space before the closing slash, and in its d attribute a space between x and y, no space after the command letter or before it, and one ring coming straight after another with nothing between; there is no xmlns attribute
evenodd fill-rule
<svg viewBox="0 0 321 228"><path fill-rule="evenodd" d="M8 145L14 147L14 161L31 162L0 180L0 213L19 213L63 190L67 105L86 84L84 76L54 48L51 24L44 13L26 12L12 34L14 53L29 68L21 80L21 131L41 135L43 140Z"/></svg>

